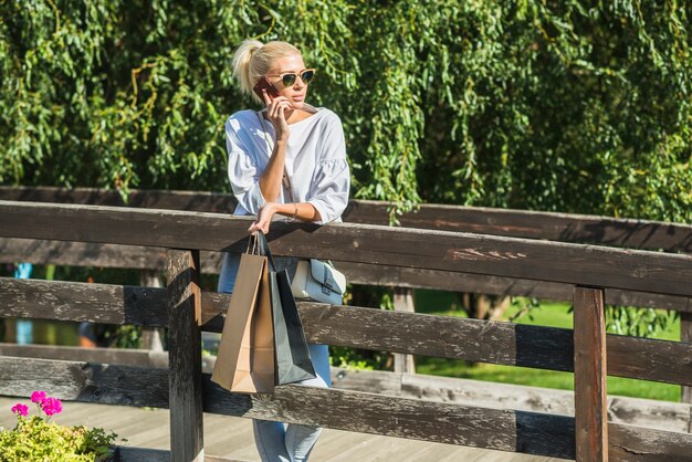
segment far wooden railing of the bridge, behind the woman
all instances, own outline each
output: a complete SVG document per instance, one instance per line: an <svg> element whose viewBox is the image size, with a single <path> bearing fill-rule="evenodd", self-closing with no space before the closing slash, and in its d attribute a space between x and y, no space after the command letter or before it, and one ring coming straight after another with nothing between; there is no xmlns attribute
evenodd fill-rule
<svg viewBox="0 0 692 462"><path fill-rule="evenodd" d="M77 188L12 188L0 187L0 199L60 203L82 203L124 207L117 191ZM132 191L128 207L229 213L235 207L232 195L191 191ZM387 204L354 200L344 219L352 223L387 224ZM532 212L473 207L422 204L415 213L400 217L402 227L473 232L513 238L590 243L606 246L662 250L692 253L692 227L647 220L566 213ZM162 249L148 246L0 239L0 255L4 262L27 261L36 264L94 265L160 270L165 264ZM220 254L202 252L200 263L205 273L218 273ZM336 259L332 259L336 260ZM536 298L572 301L573 285L562 282L536 281L388 266L361 262L336 262L354 284L395 286L395 309L411 312L412 288L440 288L499 296L524 295ZM610 288L606 292L610 305L648 306L680 313L680 334L692 342L692 301L690 297L639 291ZM395 355L396 371L411 371L410 360ZM692 402L692 388L683 387L683 402Z"/></svg>

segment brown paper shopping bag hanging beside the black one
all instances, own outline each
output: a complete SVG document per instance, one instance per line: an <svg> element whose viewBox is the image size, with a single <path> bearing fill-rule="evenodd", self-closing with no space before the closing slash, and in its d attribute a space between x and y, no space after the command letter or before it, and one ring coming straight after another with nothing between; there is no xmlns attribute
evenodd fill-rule
<svg viewBox="0 0 692 462"><path fill-rule="evenodd" d="M274 330L266 256L243 253L211 380L244 393L274 391Z"/></svg>

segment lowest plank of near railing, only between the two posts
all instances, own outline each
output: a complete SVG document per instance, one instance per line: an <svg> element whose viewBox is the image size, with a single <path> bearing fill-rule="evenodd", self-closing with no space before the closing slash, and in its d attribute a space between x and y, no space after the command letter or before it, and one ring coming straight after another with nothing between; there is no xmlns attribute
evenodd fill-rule
<svg viewBox="0 0 692 462"><path fill-rule="evenodd" d="M233 395L205 378L208 412L570 459L569 418L301 386ZM329 409L329 412L324 412ZM539 437L538 437L539 434Z"/></svg>

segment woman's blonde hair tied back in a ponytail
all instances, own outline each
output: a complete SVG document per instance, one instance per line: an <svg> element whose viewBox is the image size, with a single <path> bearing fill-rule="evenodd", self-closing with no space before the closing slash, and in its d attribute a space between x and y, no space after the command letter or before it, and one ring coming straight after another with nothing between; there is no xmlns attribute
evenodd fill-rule
<svg viewBox="0 0 692 462"><path fill-rule="evenodd" d="M252 87L272 69L274 61L291 54L301 54L291 43L274 41L263 44L258 40L243 41L233 55L233 75L238 78L240 88L258 103L263 103Z"/></svg>

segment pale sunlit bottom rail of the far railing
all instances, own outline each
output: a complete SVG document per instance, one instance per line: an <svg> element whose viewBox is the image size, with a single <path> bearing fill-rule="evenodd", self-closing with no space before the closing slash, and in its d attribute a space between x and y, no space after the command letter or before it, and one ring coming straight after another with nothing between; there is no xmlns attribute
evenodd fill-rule
<svg viewBox="0 0 692 462"><path fill-rule="evenodd" d="M108 363L151 368L168 367L167 353L123 348L0 344L0 356ZM202 371L211 374L214 360L213 356L202 356ZM332 367L332 386L343 390L368 391L429 401L574 416L574 393L567 390L420 374L348 370L338 367ZM692 407L686 403L608 397L608 418L615 423L688 432L691 413Z"/></svg>

